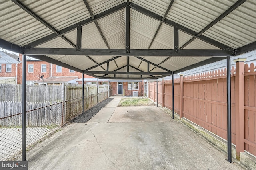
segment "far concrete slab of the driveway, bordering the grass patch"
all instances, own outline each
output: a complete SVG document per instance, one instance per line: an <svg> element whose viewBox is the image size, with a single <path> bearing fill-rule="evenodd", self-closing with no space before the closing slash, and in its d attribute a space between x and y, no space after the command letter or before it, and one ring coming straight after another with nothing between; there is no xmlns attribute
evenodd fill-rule
<svg viewBox="0 0 256 170"><path fill-rule="evenodd" d="M170 121L171 117L155 106L116 107L109 122Z"/></svg>

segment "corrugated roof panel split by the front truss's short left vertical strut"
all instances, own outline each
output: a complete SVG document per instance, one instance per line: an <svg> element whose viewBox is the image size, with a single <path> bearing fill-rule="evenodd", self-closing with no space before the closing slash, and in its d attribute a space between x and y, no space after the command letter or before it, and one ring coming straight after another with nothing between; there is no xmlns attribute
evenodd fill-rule
<svg viewBox="0 0 256 170"><path fill-rule="evenodd" d="M72 43L76 44L76 30L71 31L64 36L72 41ZM104 43L95 23L90 23L82 27L82 48L108 48Z"/></svg>

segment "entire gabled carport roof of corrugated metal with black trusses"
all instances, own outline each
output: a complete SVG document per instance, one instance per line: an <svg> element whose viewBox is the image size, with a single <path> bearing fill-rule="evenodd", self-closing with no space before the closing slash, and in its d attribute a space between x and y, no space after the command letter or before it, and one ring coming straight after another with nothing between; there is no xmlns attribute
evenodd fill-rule
<svg viewBox="0 0 256 170"><path fill-rule="evenodd" d="M156 79L256 49L254 0L4 0L0 47L97 78Z"/></svg>

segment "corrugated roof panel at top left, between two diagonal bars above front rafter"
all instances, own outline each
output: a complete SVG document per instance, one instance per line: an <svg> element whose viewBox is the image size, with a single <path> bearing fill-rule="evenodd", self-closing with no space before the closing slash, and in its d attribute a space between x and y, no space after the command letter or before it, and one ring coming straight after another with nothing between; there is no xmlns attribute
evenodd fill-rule
<svg viewBox="0 0 256 170"><path fill-rule="evenodd" d="M83 0L22 0L21 2L57 30L90 18Z"/></svg>

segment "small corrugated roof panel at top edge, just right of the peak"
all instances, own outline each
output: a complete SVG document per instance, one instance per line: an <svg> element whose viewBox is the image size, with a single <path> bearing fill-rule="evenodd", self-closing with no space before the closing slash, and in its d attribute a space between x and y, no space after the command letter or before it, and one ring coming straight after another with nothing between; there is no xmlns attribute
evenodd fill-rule
<svg viewBox="0 0 256 170"><path fill-rule="evenodd" d="M130 2L146 8L160 16L164 16L171 0L130 0Z"/></svg>

